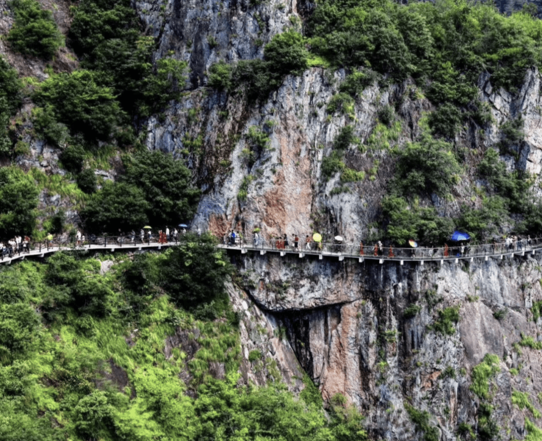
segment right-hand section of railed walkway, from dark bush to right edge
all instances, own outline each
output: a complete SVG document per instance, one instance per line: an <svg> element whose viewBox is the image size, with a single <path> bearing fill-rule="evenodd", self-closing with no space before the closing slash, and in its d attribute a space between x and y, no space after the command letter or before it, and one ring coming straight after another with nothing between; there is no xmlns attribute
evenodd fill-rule
<svg viewBox="0 0 542 441"><path fill-rule="evenodd" d="M513 247L512 247L513 246ZM321 244L321 249L318 244L311 242L311 249L307 250L304 242L299 241L299 248L293 248L293 243L289 242L289 246L283 246L283 242L276 240L270 244L262 242L252 245L218 245L220 248L228 250L238 250L242 254L248 251L266 253L280 253L281 256L286 254L295 254L300 258L308 255L317 255L319 259L337 258L339 261L347 259L358 259L359 262L365 260L377 260L380 264L385 261L395 261L399 265L403 265L405 261L414 261L423 265L425 261L437 261L442 265L444 261L453 261L458 263L459 260L472 262L474 259L488 260L503 259L505 256L513 255L534 255L537 252L542 252L542 238L517 241L511 246L505 243L484 244L484 245L451 245L449 247L433 247L433 248L390 248L385 246L382 250L375 250L375 246L351 245L351 244Z"/></svg>

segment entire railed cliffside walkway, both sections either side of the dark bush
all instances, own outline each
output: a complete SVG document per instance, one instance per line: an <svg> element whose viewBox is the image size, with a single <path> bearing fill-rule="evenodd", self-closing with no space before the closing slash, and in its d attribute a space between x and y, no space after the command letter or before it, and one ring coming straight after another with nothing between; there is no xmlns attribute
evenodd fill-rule
<svg viewBox="0 0 542 441"><path fill-rule="evenodd" d="M141 251L141 250L162 250L163 248L177 245L176 241L168 241L159 243L157 241L143 241L139 237L132 240L129 237L98 237L91 242L78 245L75 242L56 242L48 245L47 241L36 242L29 244L28 250L22 248L17 251L12 251L11 256L2 255L0 250L0 264L10 264L14 260L23 260L26 257L45 257L46 255L57 251L106 251L114 252L121 251ZM505 256L525 256L528 254L534 255L537 252L542 252L542 238L531 239L530 243L526 240L518 241L513 245L513 248L506 246L504 243L499 244L484 244L461 246L453 245L448 248L433 247L433 248L390 248L383 247L382 250L376 250L374 246L362 246L351 244L327 244L322 243L321 249L318 244L311 242L311 249L307 250L305 243L299 242L299 248L295 249L291 242L288 247L283 245L283 242L276 240L266 242L260 240L258 244L239 244L236 245L217 245L218 248L224 250L240 251L245 254L248 251L260 253L279 253L281 256L286 254L297 255L299 258L304 258L308 255L318 256L319 259L337 258L339 261L347 259L358 259L359 262L365 260L377 260L383 264L384 261L395 261L403 265L405 261L414 261L423 265L425 261L438 261L442 265L444 261L459 260L473 261L474 259L488 260L503 259Z"/></svg>

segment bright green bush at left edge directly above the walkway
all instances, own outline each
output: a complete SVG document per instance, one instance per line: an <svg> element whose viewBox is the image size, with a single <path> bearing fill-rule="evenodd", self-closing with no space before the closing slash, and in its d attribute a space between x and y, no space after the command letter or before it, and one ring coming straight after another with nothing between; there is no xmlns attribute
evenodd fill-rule
<svg viewBox="0 0 542 441"><path fill-rule="evenodd" d="M0 167L0 237L31 234L36 221L38 189L16 167Z"/></svg>

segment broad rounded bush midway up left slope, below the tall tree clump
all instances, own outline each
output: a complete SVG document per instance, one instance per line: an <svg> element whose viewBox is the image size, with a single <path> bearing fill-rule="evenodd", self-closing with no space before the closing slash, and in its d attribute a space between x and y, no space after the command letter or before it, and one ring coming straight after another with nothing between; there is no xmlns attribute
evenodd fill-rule
<svg viewBox="0 0 542 441"><path fill-rule="evenodd" d="M55 119L65 123L72 134L107 140L119 123L121 111L111 88L99 86L95 76L84 70L52 75L35 92L34 100L50 105Z"/></svg>

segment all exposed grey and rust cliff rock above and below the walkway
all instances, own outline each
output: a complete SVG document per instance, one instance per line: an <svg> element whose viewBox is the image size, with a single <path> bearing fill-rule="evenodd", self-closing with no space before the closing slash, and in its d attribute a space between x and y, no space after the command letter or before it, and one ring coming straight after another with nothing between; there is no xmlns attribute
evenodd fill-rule
<svg viewBox="0 0 542 441"><path fill-rule="evenodd" d="M188 160L204 190L193 225L218 236L240 229L248 238L255 227L265 238L285 233L304 237L317 229L327 237L340 234L357 242L371 233L393 172L390 149L415 139L424 112L431 110L414 85L375 84L365 89L350 114L333 115L326 107L346 73L312 68L301 76L288 76L264 103L248 104L242 94L201 87L206 69L218 60L261 57L262 44L296 25L298 18L292 17L303 18L311 4L210 0L198 5L173 1L137 6L160 37L156 56L173 50L190 63L184 100L175 103L164 119L150 120L147 146ZM455 139L457 148L495 147L502 124L521 117L525 137L501 159L509 169L533 174L533 189L540 192L539 72L530 69L514 95L495 90L488 76L481 76L479 88L492 123L485 132L465 127ZM399 133L386 139L377 133L383 144L368 151L351 146L345 163L365 171L366 178L346 184L349 191L332 192L340 185L339 177L326 180L321 161L330 154L335 137L349 124L366 143L375 134L378 110L386 105L395 108ZM255 152L253 163L242 154L249 148L250 130L269 138L266 148ZM475 154L468 157L473 162L479 159ZM456 215L465 202L480 206L481 197L472 190L476 180L468 176L458 183L453 200L434 197L440 214ZM542 368L536 348L542 323L533 321L530 310L533 302L542 300L538 254L399 266L232 253L245 277L241 285L246 298L236 304L246 315L243 350L282 351L279 365L288 381L298 375L293 350L326 400L344 394L363 411L373 438L421 438L422 427L409 417L412 408L428 411L429 426L449 440L456 439L461 423L474 429L493 424L492 436L501 439L524 437L525 417L540 424L536 411L512 404L514 391L519 391L527 393L535 409L541 407L537 397L542 392ZM453 311L459 311L457 322ZM270 338L265 342L259 335L266 333L250 324L260 319L264 323L264 318ZM280 338L270 337L272 329L274 334L286 333L284 345ZM532 337L532 344L525 343L526 337ZM518 346L519 342L527 346ZM484 395L473 385L481 370L475 367L485 363L486 354L497 355L499 362L483 379L489 390ZM246 375L257 377L253 366L246 368ZM487 405L493 406L489 417Z"/></svg>

